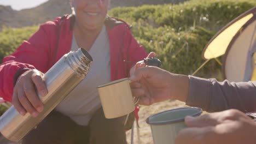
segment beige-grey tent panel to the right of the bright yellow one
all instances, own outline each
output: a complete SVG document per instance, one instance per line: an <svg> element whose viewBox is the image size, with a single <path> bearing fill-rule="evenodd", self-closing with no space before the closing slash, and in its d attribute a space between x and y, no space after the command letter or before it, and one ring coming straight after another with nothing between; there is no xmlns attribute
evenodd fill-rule
<svg viewBox="0 0 256 144"><path fill-rule="evenodd" d="M253 58L250 53L254 51L255 26L256 21L249 22L230 42L222 59L225 79L235 82L251 79Z"/></svg>

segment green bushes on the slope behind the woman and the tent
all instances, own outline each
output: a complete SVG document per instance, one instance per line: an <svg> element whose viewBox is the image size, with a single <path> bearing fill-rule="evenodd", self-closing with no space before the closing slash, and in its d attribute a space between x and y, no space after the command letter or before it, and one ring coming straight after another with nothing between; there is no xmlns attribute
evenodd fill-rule
<svg viewBox="0 0 256 144"><path fill-rule="evenodd" d="M213 35L255 5L250 0L191 0L184 4L115 8L109 15L130 23L133 36L148 52L156 52L162 68L188 75L204 62L201 52ZM3 28L0 60L14 52L36 29L38 26ZM220 66L212 60L197 76L210 77L219 71Z"/></svg>

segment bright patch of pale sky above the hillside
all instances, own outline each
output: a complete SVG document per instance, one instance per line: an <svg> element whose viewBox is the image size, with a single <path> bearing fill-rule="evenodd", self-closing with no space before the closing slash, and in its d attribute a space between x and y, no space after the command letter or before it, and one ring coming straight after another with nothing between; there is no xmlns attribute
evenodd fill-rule
<svg viewBox="0 0 256 144"><path fill-rule="evenodd" d="M36 7L48 0L0 0L0 5L10 5L15 10Z"/></svg>

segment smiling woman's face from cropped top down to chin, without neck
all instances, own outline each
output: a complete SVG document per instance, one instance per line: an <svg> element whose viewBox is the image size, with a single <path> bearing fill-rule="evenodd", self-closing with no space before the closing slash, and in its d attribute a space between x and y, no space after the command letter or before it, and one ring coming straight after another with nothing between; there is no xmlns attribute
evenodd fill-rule
<svg viewBox="0 0 256 144"><path fill-rule="evenodd" d="M78 25L89 29L101 28L110 0L71 0Z"/></svg>

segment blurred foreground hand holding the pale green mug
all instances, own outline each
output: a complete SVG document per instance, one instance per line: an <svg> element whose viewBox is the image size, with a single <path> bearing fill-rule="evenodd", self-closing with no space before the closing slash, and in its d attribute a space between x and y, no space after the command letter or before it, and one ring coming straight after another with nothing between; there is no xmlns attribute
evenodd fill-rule
<svg viewBox="0 0 256 144"><path fill-rule="evenodd" d="M176 144L251 144L256 142L256 123L238 110L186 117L189 128L180 131Z"/></svg>

